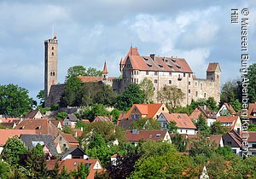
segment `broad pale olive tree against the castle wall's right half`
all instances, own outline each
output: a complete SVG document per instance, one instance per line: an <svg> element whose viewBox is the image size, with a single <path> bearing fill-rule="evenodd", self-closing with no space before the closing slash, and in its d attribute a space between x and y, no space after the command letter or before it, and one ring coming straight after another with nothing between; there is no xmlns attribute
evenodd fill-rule
<svg viewBox="0 0 256 179"><path fill-rule="evenodd" d="M166 102L168 105L172 107L172 109L176 108L183 101L184 93L182 90L178 89L175 85L165 85L162 90L158 93L158 98L161 102Z"/></svg>

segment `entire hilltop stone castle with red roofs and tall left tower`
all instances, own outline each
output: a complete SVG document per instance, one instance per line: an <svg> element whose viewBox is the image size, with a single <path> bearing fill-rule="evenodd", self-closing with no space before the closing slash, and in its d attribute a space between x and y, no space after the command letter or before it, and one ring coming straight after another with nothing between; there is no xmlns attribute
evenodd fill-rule
<svg viewBox="0 0 256 179"><path fill-rule="evenodd" d="M44 91L45 106L53 106L61 97L64 84L57 84L58 41L55 38L44 41L45 70ZM176 85L184 95L182 106L189 105L192 99L214 97L220 100L221 70L218 63L209 63L207 78L196 78L187 61L183 58L160 57L156 55L141 56L137 48L130 48L124 60L119 62L122 78L108 77L105 61L102 77L79 77L83 83L98 82L109 84L113 91L120 94L129 83L140 84L143 78L148 78L154 84L154 101L157 93L164 85Z"/></svg>

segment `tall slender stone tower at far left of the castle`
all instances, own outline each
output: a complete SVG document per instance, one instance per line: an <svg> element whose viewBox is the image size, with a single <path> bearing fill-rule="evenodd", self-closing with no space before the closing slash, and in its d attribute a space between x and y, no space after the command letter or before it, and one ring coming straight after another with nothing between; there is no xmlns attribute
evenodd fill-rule
<svg viewBox="0 0 256 179"><path fill-rule="evenodd" d="M58 76L58 40L54 38L44 41L44 94L49 96L50 86L57 84Z"/></svg>

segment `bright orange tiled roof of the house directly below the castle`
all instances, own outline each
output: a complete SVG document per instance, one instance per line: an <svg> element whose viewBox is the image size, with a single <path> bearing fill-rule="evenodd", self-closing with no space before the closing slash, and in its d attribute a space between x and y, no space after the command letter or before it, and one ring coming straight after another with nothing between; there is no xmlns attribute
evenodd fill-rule
<svg viewBox="0 0 256 179"><path fill-rule="evenodd" d="M138 111L142 113L142 115L147 115L147 118L153 118L162 106L163 104L133 104L123 118L129 118L135 107L137 107Z"/></svg>

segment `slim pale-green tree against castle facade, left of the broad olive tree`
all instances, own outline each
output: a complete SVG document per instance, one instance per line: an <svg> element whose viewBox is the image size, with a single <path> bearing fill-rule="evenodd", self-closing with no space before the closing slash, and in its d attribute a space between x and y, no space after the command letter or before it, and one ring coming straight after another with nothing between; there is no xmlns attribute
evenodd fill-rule
<svg viewBox="0 0 256 179"><path fill-rule="evenodd" d="M140 84L141 89L144 93L144 103L149 103L153 98L154 95L154 84L148 78L143 78L142 83Z"/></svg>

